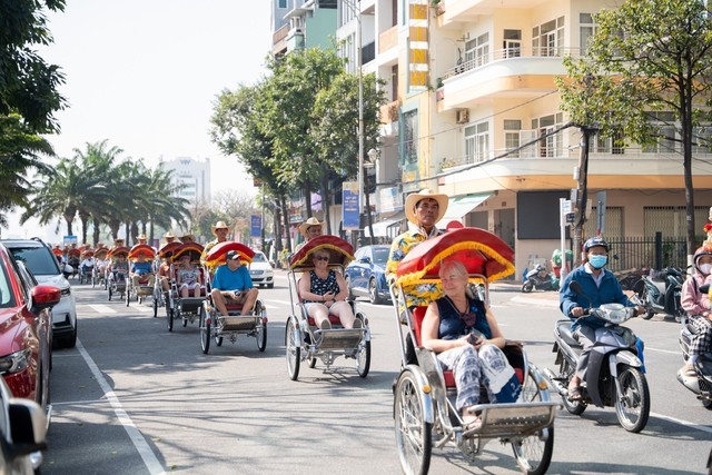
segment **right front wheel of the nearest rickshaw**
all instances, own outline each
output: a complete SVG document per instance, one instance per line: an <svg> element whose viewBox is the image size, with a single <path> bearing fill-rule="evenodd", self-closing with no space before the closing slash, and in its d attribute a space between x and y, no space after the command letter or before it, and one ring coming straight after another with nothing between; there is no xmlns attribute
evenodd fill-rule
<svg viewBox="0 0 712 475"><path fill-rule="evenodd" d="M534 378L534 368L530 368L522 386L522 403L541 403L548 400L548 394L543 396L542 389ZM512 443L517 465L528 475L546 473L554 452L554 425L544 427L536 434Z"/></svg>

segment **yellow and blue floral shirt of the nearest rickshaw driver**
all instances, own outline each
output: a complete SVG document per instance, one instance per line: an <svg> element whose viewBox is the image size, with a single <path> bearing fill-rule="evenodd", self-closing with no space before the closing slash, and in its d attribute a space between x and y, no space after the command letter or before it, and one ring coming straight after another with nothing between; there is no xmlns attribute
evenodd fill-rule
<svg viewBox="0 0 712 475"><path fill-rule="evenodd" d="M411 249L424 240L433 239L441 234L439 229L433 227L429 235L426 234L423 228L411 228L402 235L396 236L390 245L390 253L388 254L388 261L386 263L386 281L389 284L395 281L398 264L400 264ZM408 308L427 306L431 301L443 295L443 287L439 284L417 284L404 287L403 290Z"/></svg>

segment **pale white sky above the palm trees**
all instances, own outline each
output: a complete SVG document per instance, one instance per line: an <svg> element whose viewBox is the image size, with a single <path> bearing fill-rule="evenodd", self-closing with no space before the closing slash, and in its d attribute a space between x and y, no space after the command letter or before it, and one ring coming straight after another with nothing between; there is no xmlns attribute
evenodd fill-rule
<svg viewBox="0 0 712 475"><path fill-rule="evenodd" d="M251 189L251 178L210 141L214 101L224 89L265 75L271 46L267 0L68 0L48 14L55 42L38 51L61 67L68 108L56 113L61 133L48 136L59 157L107 140L119 158L210 159L212 191ZM10 217L2 237L61 240L66 225L38 232ZM78 220L75 234L80 232Z"/></svg>

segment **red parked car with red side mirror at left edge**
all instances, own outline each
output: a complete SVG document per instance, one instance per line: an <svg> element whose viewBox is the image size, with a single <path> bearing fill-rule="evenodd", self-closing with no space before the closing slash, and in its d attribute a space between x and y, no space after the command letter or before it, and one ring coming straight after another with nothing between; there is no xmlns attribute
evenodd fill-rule
<svg viewBox="0 0 712 475"><path fill-rule="evenodd" d="M52 315L60 289L37 285L0 244L0 374L14 397L49 403Z"/></svg>

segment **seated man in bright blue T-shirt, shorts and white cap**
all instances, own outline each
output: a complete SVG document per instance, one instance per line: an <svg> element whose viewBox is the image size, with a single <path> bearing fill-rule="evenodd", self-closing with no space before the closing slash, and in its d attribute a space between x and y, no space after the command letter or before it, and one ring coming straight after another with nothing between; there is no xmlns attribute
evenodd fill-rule
<svg viewBox="0 0 712 475"><path fill-rule="evenodd" d="M226 265L218 267L212 277L212 304L224 317L228 316L227 306L235 304L243 306L241 315L249 315L258 294L253 287L249 270L243 266L240 255L236 250L228 250L225 260Z"/></svg>

